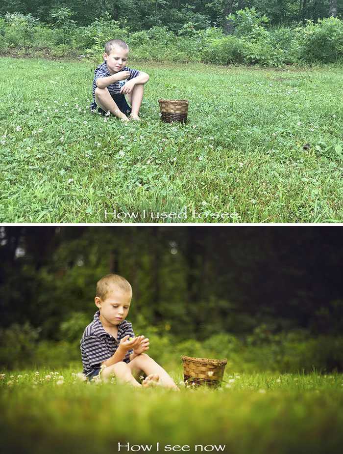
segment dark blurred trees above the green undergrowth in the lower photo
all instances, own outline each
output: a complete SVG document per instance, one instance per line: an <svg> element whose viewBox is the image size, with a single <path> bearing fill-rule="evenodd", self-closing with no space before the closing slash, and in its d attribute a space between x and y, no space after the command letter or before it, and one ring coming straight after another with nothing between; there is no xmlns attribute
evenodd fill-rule
<svg viewBox="0 0 343 454"><path fill-rule="evenodd" d="M56 339L61 323L91 321L98 279L119 273L130 321L179 338L262 323L339 334L342 260L340 227L1 227L0 326Z"/></svg>

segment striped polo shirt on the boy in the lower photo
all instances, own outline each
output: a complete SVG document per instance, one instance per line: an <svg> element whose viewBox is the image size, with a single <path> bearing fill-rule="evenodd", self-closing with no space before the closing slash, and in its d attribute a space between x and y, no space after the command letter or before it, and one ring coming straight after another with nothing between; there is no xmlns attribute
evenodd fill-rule
<svg viewBox="0 0 343 454"><path fill-rule="evenodd" d="M100 311L94 314L92 323L86 326L81 339L81 356L83 363L83 373L88 375L95 369L99 368L101 363L114 355L120 341L123 337L129 335L134 337L132 325L130 322L123 320L118 325L117 341L115 338L105 331L99 319ZM133 350L126 352L123 359L125 363L129 363L129 355Z"/></svg>

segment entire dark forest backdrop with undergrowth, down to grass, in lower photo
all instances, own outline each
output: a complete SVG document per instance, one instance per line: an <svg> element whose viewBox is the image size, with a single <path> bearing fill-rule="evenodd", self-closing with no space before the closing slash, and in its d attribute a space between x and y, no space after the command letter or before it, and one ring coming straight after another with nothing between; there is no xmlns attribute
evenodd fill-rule
<svg viewBox="0 0 343 454"><path fill-rule="evenodd" d="M160 360L341 370L342 263L342 227L0 227L0 362L79 361L96 283L118 273Z"/></svg>

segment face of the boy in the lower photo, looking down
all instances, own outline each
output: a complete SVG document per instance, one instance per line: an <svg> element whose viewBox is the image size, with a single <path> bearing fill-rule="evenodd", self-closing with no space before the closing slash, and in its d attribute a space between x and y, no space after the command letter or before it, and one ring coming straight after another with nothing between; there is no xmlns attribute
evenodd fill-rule
<svg viewBox="0 0 343 454"><path fill-rule="evenodd" d="M121 288L112 288L104 301L98 296L95 304L100 310L100 321L107 327L113 327L122 322L128 313L132 292L125 292Z"/></svg>

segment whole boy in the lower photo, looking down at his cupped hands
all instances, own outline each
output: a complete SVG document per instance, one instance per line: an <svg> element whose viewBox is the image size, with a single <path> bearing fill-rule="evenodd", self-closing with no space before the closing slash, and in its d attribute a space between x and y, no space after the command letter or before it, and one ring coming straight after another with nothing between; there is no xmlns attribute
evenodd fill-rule
<svg viewBox="0 0 343 454"><path fill-rule="evenodd" d="M98 312L81 339L83 373L91 380L102 369L104 378L114 375L135 387L159 384L178 390L168 373L145 353L149 340L135 337L131 323L125 320L131 298L131 285L122 276L109 274L98 281ZM134 377L140 371L147 374L142 384Z"/></svg>

